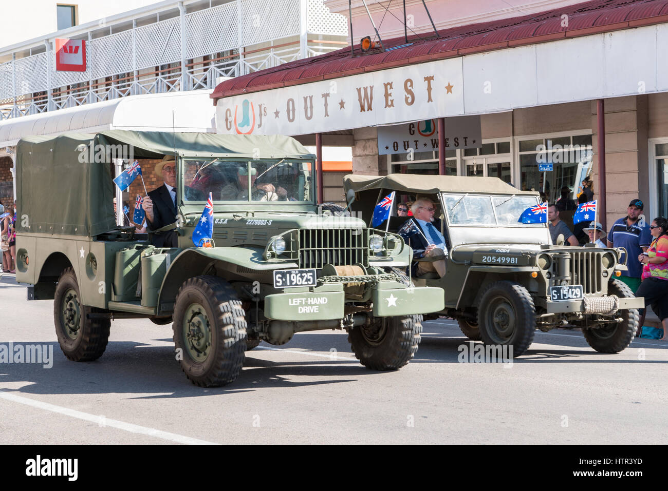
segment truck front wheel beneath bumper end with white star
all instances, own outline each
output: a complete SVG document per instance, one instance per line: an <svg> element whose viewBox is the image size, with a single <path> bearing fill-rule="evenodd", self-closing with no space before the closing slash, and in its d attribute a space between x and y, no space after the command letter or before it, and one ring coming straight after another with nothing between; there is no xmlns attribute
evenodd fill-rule
<svg viewBox="0 0 668 491"><path fill-rule="evenodd" d="M421 333L422 316L377 317L351 329L348 342L365 367L397 370L418 351Z"/></svg>

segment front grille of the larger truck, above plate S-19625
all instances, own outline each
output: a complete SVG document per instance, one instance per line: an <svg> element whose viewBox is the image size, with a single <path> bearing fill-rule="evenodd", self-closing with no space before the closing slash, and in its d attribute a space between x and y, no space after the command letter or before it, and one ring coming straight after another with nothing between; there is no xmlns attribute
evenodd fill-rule
<svg viewBox="0 0 668 491"><path fill-rule="evenodd" d="M300 229L299 268L369 265L369 229Z"/></svg>

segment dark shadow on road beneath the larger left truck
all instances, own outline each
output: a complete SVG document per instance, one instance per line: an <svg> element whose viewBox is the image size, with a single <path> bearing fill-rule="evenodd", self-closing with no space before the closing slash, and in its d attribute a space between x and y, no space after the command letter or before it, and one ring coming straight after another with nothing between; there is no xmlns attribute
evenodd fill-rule
<svg viewBox="0 0 668 491"><path fill-rule="evenodd" d="M15 346L19 342L15 342ZM21 343L23 344L23 343ZM51 368L43 363L1 363L0 386L19 394L142 394L136 398L188 398L235 394L261 388L287 388L355 382L359 376L379 374L352 358L328 358L273 362L246 352L240 375L232 384L216 388L194 386L175 360L173 346L150 346L136 342L110 342L94 362L71 362L54 342L29 342L51 346ZM291 354L291 358L295 358ZM351 366L351 362L355 363ZM295 380L319 377L325 380ZM20 388L15 388L21 386ZM155 394L155 395L146 395Z"/></svg>

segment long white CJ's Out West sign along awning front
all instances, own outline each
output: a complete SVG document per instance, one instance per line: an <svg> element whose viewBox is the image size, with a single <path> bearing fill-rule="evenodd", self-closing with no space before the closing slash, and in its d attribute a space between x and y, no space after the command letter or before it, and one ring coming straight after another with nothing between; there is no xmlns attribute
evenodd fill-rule
<svg viewBox="0 0 668 491"><path fill-rule="evenodd" d="M462 60L446 59L224 97L216 105L216 128L232 135L304 135L461 115L462 84Z"/></svg>

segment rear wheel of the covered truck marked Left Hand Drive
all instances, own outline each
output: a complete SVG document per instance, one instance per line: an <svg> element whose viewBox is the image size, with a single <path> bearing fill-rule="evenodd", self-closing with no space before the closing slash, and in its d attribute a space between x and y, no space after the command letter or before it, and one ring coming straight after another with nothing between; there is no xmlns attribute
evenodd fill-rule
<svg viewBox="0 0 668 491"><path fill-rule="evenodd" d="M91 362L102 356L109 342L109 319L89 319L102 312L81 304L79 283L72 268L60 274L53 297L55 335L63 354L73 362Z"/></svg>

